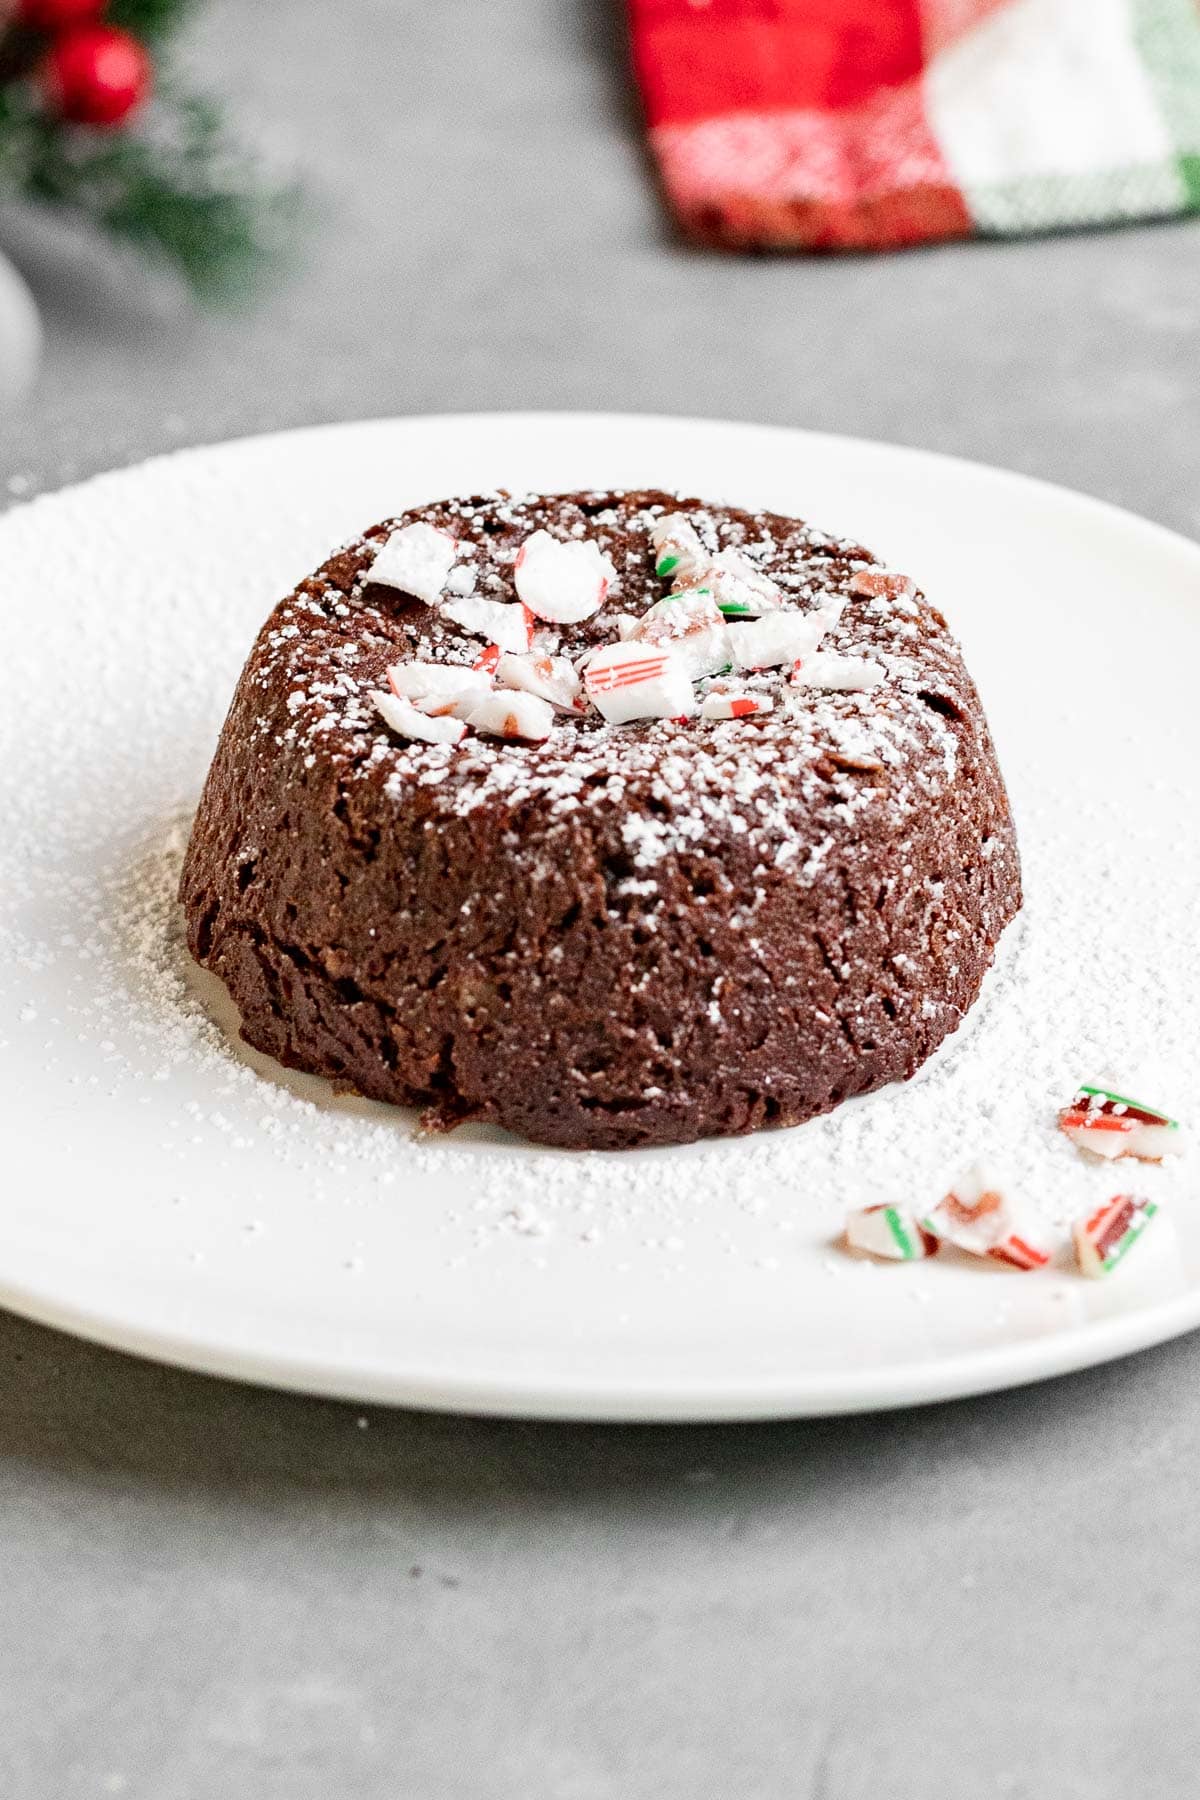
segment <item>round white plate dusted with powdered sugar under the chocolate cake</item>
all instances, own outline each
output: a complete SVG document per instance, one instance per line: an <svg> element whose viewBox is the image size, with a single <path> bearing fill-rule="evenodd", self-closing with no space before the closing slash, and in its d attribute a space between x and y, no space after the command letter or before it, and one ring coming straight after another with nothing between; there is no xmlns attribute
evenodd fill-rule
<svg viewBox="0 0 1200 1800"><path fill-rule="evenodd" d="M662 484L860 535L950 614L1029 904L903 1087L734 1143L417 1143L234 1048L171 882L250 639L324 553L455 491ZM1081 1368L1200 1323L1191 1159L1105 1283L837 1251L847 1202L986 1150L1061 1224L1130 1186L1054 1130L1108 1069L1187 1111L1200 1044L1200 549L914 450L655 418L398 419L151 463L0 522L0 1300L191 1368L466 1411L748 1418ZM1195 1114L1195 1109L1193 1109Z"/></svg>

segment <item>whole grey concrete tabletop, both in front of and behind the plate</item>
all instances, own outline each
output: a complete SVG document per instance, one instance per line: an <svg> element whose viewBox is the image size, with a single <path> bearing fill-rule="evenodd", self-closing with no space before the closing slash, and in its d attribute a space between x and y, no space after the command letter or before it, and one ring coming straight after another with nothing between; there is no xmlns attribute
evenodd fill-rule
<svg viewBox="0 0 1200 1800"><path fill-rule="evenodd" d="M227 0L189 54L306 166L299 274L196 319L9 218L49 335L13 495L317 419L640 407L1200 531L1196 225L693 254L606 0ZM1198 1492L1200 1337L885 1418L363 1427L0 1318L0 1795L1193 1800Z"/></svg>

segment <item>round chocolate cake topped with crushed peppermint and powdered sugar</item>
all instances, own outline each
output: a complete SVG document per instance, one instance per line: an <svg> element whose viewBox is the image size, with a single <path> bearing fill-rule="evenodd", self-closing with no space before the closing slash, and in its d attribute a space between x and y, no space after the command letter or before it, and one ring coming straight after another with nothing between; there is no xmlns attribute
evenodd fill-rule
<svg viewBox="0 0 1200 1800"><path fill-rule="evenodd" d="M497 493L273 610L180 896L257 1049L430 1125L624 1148L912 1075L1020 864L907 576L775 513Z"/></svg>

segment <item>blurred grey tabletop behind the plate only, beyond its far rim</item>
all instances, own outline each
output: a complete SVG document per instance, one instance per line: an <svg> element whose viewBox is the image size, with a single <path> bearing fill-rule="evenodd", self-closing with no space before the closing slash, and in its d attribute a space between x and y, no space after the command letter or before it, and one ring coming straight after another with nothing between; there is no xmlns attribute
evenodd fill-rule
<svg viewBox="0 0 1200 1800"><path fill-rule="evenodd" d="M687 245L619 0L212 0L180 79L302 187L291 266L198 308L0 209L41 313L0 419L23 497L180 445L367 414L781 421L1029 470L1200 529L1200 223L887 256Z"/></svg>

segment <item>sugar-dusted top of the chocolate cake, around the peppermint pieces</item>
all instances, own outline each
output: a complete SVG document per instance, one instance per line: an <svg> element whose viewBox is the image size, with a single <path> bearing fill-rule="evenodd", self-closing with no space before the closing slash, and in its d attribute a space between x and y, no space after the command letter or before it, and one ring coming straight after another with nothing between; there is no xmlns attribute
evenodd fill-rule
<svg viewBox="0 0 1200 1800"><path fill-rule="evenodd" d="M381 544L405 524L428 522L457 540L457 567L444 599L475 594L513 601L515 562L538 529L561 542L592 542L615 580L604 605L572 625L540 625L533 644L579 662L619 639L621 616L640 616L667 583L657 572L651 531L682 513L712 554L739 551L783 590L784 605L808 614L844 601L822 652L869 657L883 675L869 691L793 688L788 670L738 677L738 689L774 700L748 718L639 720L606 724L597 711L563 713L543 742L466 736L461 743L398 738L372 693L390 664L405 659L470 668L484 641L396 587L371 580ZM482 495L412 508L345 545L282 601L263 628L257 679L286 691L281 731L264 706L259 731L311 763L331 758L344 779L385 787L401 801L426 790L435 812L459 815L500 803L536 801L569 815L603 790L608 801L637 792L628 819L631 862L648 869L712 828L747 839L761 868L802 857L793 871L813 880L835 833L871 810L874 824L901 835L909 814L955 779L959 731L973 729L970 677L941 614L912 583L864 583L876 560L775 513L664 491L551 497ZM864 592L864 587L894 587ZM444 603L444 601L443 601ZM739 630L739 626L732 626ZM709 682L700 682L703 693ZM655 810L660 799L660 812ZM813 817L828 835L813 835ZM984 846L986 853L986 846Z"/></svg>

